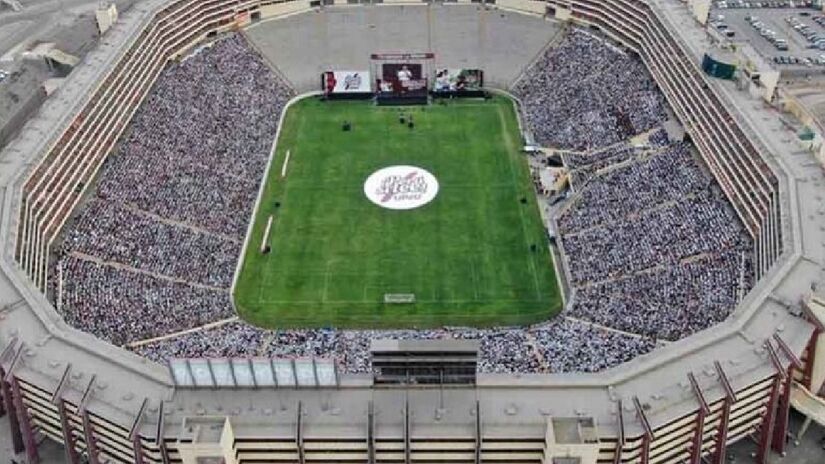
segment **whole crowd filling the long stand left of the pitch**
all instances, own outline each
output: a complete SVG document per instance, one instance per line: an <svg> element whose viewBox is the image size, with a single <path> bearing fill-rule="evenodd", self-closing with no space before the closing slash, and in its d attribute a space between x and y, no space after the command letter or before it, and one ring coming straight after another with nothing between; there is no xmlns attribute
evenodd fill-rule
<svg viewBox="0 0 825 464"><path fill-rule="evenodd" d="M234 315L228 289L292 90L240 35L170 64L65 229L52 298L123 344Z"/></svg>

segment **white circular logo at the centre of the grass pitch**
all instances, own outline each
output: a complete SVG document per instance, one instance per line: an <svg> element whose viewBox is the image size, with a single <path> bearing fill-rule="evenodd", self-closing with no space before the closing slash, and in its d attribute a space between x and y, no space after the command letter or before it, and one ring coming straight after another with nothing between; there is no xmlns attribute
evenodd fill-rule
<svg viewBox="0 0 825 464"><path fill-rule="evenodd" d="M364 194L382 208L413 209L435 198L438 180L416 166L389 166L367 177Z"/></svg>

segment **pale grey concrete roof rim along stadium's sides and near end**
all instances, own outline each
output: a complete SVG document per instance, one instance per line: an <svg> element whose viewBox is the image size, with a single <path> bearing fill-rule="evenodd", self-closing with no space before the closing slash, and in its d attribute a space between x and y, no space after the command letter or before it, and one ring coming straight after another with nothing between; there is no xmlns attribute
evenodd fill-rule
<svg viewBox="0 0 825 464"><path fill-rule="evenodd" d="M616 400L638 397L652 425L696 409L687 374L693 372L708 401L724 395L718 361L734 387L749 385L772 375L774 367L764 348L774 335L799 353L812 326L800 317L801 297L821 282L825 256L825 216L820 205L825 195L822 168L792 146L792 137L777 131L776 119L761 103L745 97L719 81L709 85L728 99L737 117L753 134L765 134L769 160L781 168L784 223L789 251L773 266L726 322L689 338L668 344L626 364L596 374L479 375L476 388L372 388L369 377L344 375L337 388L282 390L274 388L175 388L170 371L159 364L116 348L92 335L67 326L46 298L20 271L13 259L13 241L19 189L25 173L36 163L73 120L76 112L107 69L151 19L151 12L169 0L141 2L103 38L2 154L0 186L3 188L0 240L0 349L7 349L3 365L23 380L57 387L60 394L78 401L89 390L87 407L129 427L135 423L144 398L145 417L140 430L154 435L161 420L166 427L182 425L191 416L231 416L236 433L291 436L297 408L303 408L307 433L344 437L363 431L368 405L377 412L379 430L403 427L404 404L409 404L418 432L427 424L455 427L457 435L472 435L478 401L485 434L513 428L524 435L542 436L546 416L593 416L599 428L610 433L616 424ZM660 2L657 2L657 4ZM703 44L700 30L684 20L683 8L664 8L665 16L688 48L698 54ZM686 11L684 14L687 14ZM673 26L671 26L673 27ZM781 356L787 365L790 360ZM65 375L64 375L65 374ZM90 388L89 388L90 387ZM517 394L514 394L517 392ZM79 403L79 401L78 401ZM625 402L625 413L633 406ZM272 420L281 417L283 420ZM421 421L420 425L417 421ZM640 433L638 421L626 421L628 433ZM417 432L417 433L418 433Z"/></svg>

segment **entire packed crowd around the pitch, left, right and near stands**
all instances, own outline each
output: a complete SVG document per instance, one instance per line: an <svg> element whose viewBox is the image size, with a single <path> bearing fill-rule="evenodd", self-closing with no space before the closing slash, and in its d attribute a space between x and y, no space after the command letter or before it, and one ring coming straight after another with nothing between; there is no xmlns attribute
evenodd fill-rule
<svg viewBox="0 0 825 464"><path fill-rule="evenodd" d="M370 343L384 338L479 340L485 373L596 372L724 319L748 282L749 245L690 146L658 128L664 100L641 61L574 30L513 90L538 140L567 150L577 191L558 217L567 317L431 330L233 318L233 273L293 95L240 35L161 75L64 231L51 297L73 326L154 361L329 357L350 373L372 371ZM651 129L648 147L626 143Z"/></svg>

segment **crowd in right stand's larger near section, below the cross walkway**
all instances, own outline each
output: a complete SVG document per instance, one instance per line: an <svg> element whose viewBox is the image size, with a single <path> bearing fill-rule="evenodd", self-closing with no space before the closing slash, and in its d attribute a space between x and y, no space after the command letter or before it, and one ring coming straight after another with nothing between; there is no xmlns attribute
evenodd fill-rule
<svg viewBox="0 0 825 464"><path fill-rule="evenodd" d="M566 159L580 168L614 158ZM751 243L690 146L600 169L557 219L574 288L568 314L663 340L724 320L751 285Z"/></svg>

